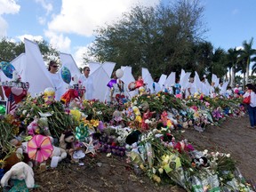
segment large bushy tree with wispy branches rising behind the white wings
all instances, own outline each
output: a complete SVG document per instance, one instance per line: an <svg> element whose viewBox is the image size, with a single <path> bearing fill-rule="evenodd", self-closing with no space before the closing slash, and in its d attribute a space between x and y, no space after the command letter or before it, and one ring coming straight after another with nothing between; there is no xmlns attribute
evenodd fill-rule
<svg viewBox="0 0 256 192"><path fill-rule="evenodd" d="M90 47L98 61L132 66L135 74L148 68L153 76L195 66L191 52L206 31L204 8L198 0L179 0L156 8L137 5L121 20L96 30Z"/></svg>

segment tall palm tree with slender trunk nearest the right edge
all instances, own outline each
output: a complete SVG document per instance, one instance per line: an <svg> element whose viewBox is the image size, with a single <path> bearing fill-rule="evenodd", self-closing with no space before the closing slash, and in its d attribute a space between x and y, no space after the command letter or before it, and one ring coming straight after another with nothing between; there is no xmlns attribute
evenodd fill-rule
<svg viewBox="0 0 256 192"><path fill-rule="evenodd" d="M244 49L241 52L241 59L246 60L246 76L245 76L246 84L248 84L248 80L249 80L249 69L250 69L252 56L256 55L256 50L252 49L252 44L253 44L253 38L248 43L245 40L243 42Z"/></svg>

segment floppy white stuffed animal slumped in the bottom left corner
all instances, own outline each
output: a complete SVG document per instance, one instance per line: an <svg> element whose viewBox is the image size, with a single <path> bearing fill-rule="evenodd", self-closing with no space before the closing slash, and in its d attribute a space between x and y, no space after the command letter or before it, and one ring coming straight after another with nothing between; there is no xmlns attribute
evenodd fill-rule
<svg viewBox="0 0 256 192"><path fill-rule="evenodd" d="M4 188L8 185L8 181L13 180L25 180L27 188L33 188L35 185L34 172L32 168L24 162L14 164L8 172L5 172L4 177L1 180L1 186Z"/></svg>

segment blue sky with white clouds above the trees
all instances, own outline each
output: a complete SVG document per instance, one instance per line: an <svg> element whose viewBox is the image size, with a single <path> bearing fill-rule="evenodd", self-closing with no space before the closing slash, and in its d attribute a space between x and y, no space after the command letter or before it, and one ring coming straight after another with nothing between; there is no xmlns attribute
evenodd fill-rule
<svg viewBox="0 0 256 192"><path fill-rule="evenodd" d="M118 19L132 4L160 0L0 0L0 37L13 41L42 39L60 52L71 53L81 66L93 40L93 29ZM164 0L165 2L168 0ZM172 0L174 1L174 0ZM253 37L256 46L255 0L202 0L206 40L225 50ZM115 60L112 60L115 62Z"/></svg>

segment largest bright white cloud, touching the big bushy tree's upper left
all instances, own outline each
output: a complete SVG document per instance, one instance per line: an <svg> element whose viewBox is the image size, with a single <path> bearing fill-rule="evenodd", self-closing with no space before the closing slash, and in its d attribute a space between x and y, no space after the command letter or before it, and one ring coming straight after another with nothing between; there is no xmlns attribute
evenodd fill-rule
<svg viewBox="0 0 256 192"><path fill-rule="evenodd" d="M129 11L133 4L158 4L160 0L62 0L60 14L54 15L48 23L49 30L60 33L74 33L92 36L93 29L110 23Z"/></svg>

